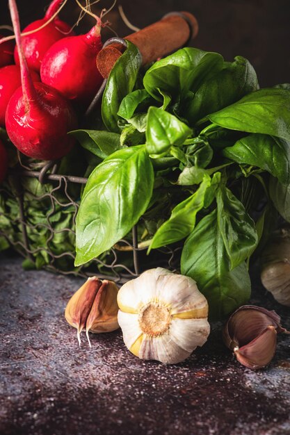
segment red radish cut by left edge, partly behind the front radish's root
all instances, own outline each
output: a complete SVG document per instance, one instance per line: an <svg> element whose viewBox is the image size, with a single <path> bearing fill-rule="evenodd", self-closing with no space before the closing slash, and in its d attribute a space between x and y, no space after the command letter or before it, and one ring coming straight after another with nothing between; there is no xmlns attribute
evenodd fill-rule
<svg viewBox="0 0 290 435"><path fill-rule="evenodd" d="M40 76L31 69L32 81L40 81ZM9 100L21 86L21 73L18 65L0 68L0 126L5 126L5 113Z"/></svg>

